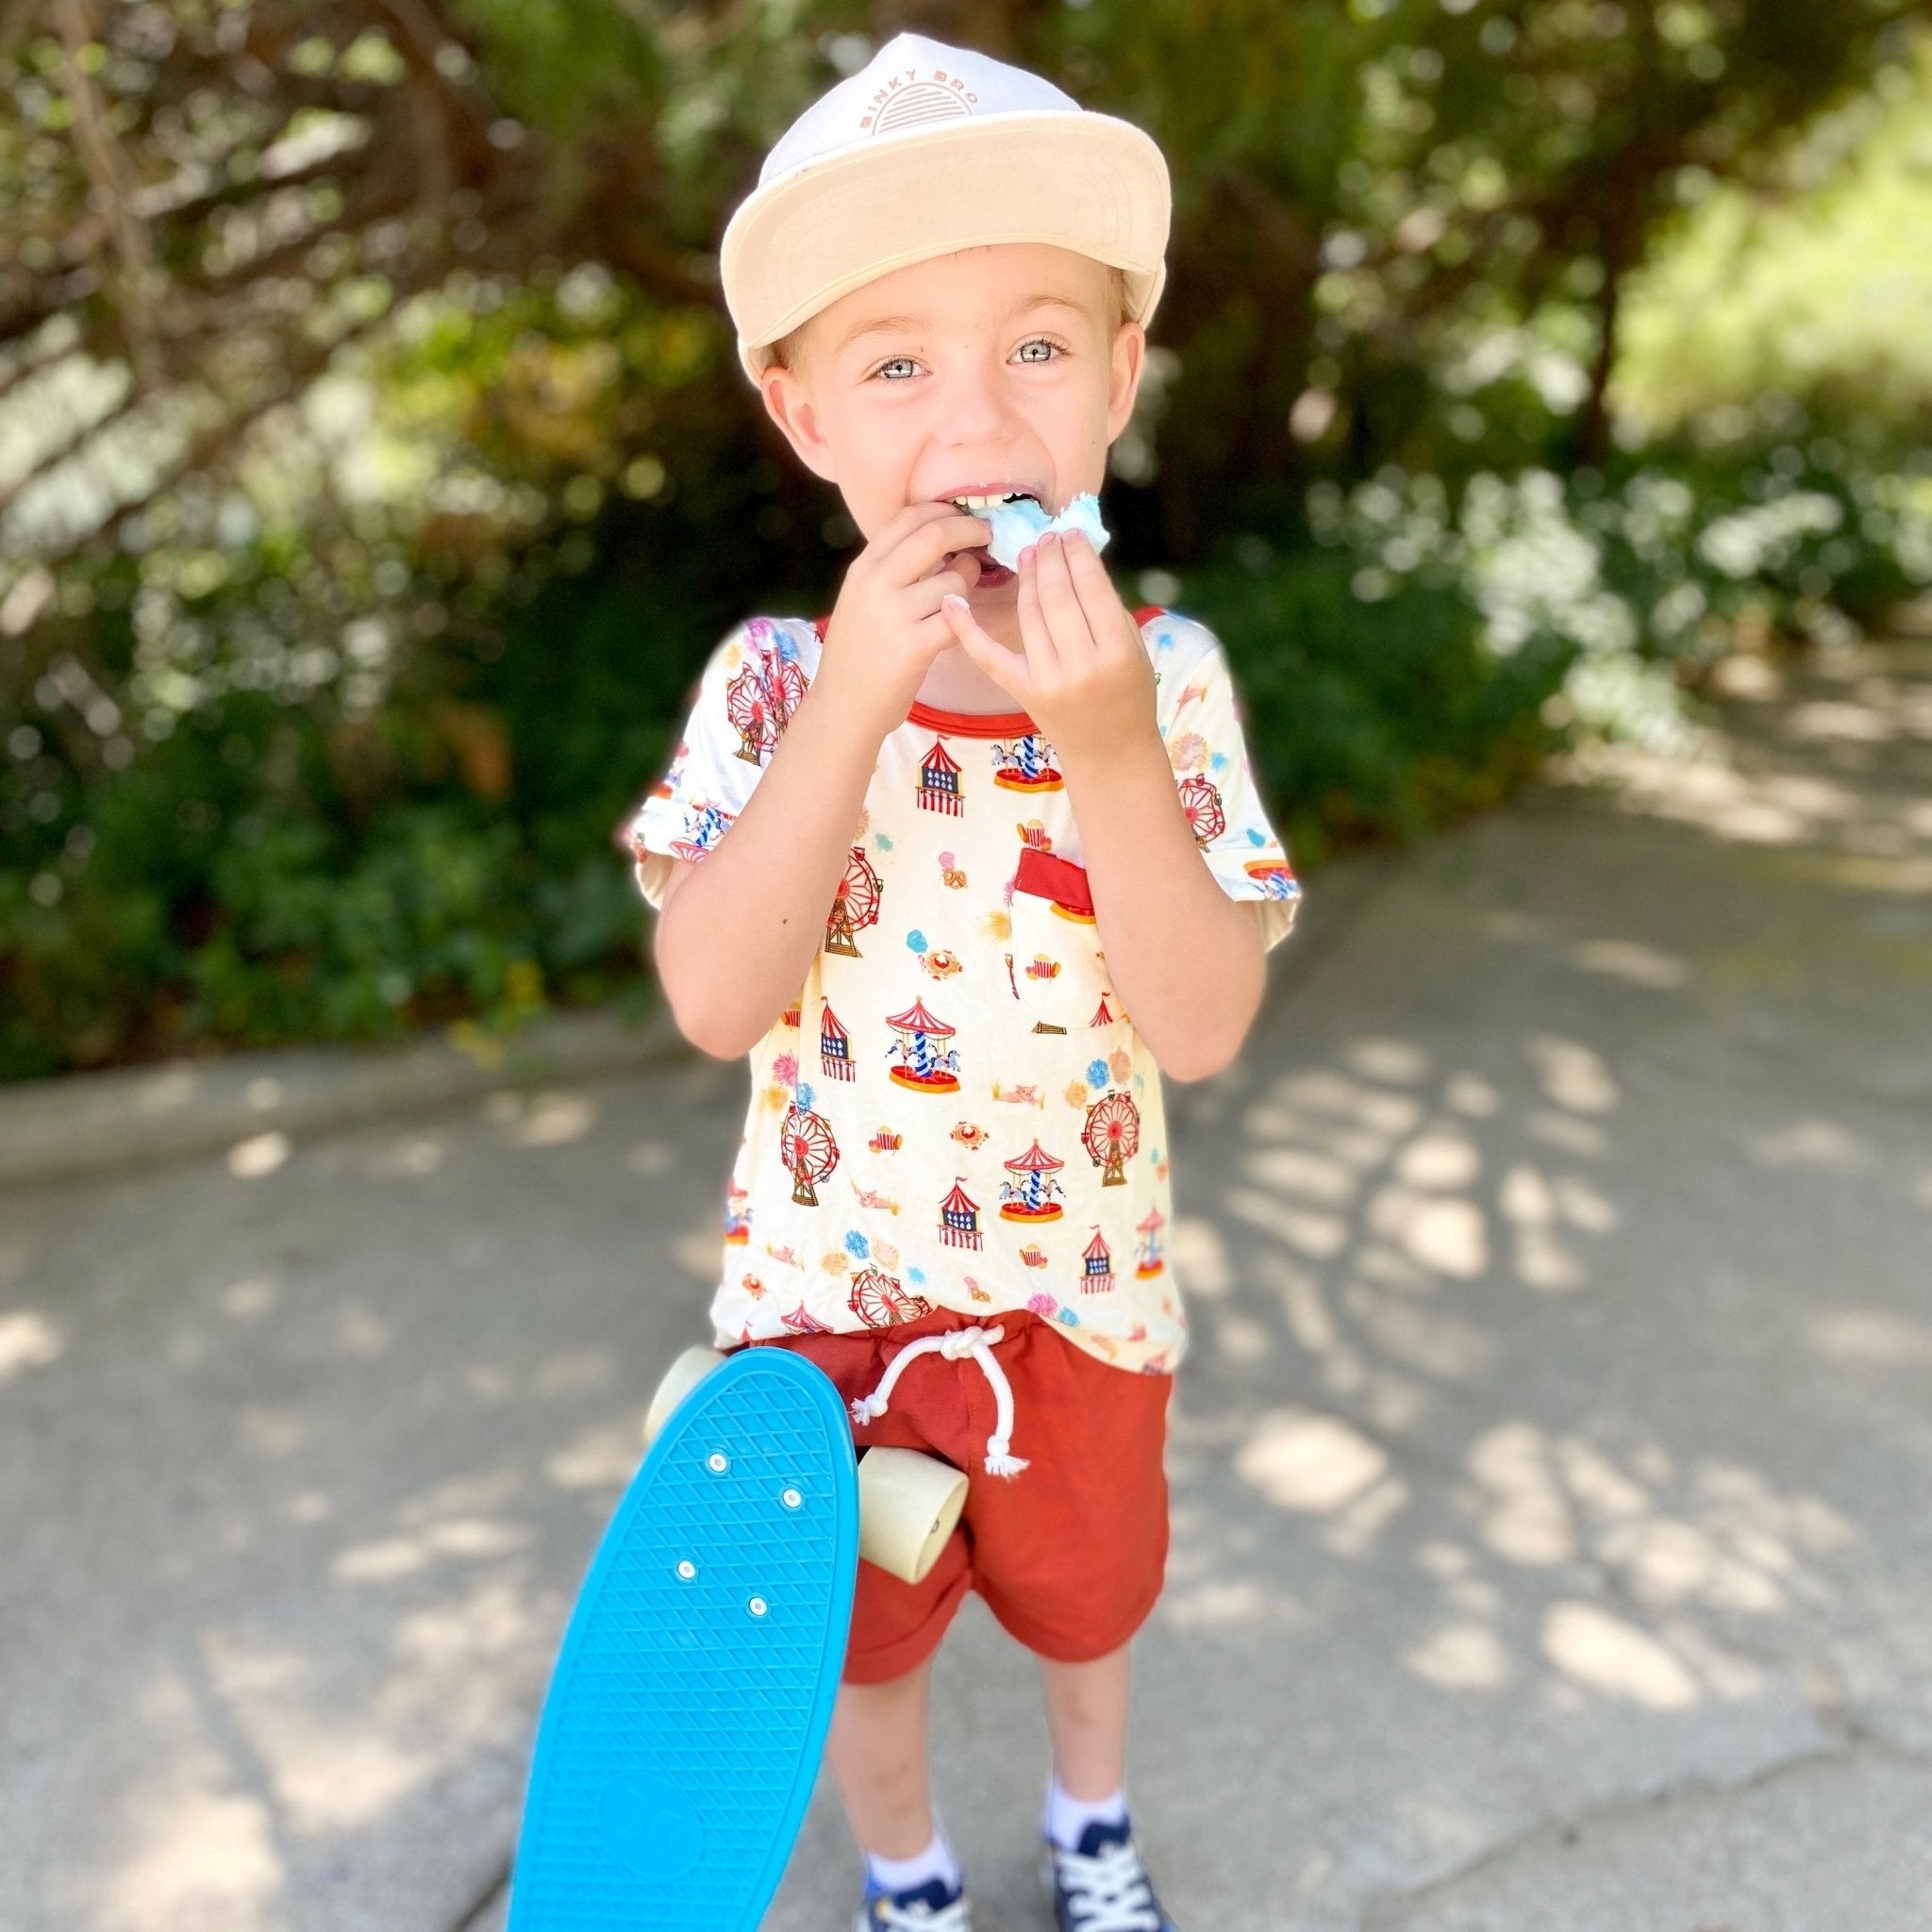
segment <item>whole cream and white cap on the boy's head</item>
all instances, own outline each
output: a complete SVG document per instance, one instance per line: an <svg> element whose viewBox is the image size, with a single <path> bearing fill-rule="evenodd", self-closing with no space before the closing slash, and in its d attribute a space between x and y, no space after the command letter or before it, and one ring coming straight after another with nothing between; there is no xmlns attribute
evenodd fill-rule
<svg viewBox="0 0 1932 1932"><path fill-rule="evenodd" d="M719 269L755 383L771 344L854 288L993 242L1122 270L1146 323L1167 280L1167 160L1024 68L920 33L887 41L784 131L724 228Z"/></svg>

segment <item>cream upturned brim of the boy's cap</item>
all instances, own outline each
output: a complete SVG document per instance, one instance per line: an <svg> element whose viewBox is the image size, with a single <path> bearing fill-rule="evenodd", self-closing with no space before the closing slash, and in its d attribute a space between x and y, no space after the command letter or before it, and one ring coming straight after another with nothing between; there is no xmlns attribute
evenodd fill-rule
<svg viewBox="0 0 1932 1932"><path fill-rule="evenodd" d="M1167 280L1167 160L1132 122L989 114L840 149L759 187L724 228L719 274L755 383L769 346L840 296L999 242L1121 269L1144 323Z"/></svg>

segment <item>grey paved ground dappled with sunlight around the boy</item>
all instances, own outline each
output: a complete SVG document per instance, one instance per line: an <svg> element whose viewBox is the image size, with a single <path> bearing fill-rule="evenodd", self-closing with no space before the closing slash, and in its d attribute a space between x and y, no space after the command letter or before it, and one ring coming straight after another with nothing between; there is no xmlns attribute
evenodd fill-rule
<svg viewBox="0 0 1932 1932"><path fill-rule="evenodd" d="M1932 651L1733 692L1729 765L1331 873L1171 1090L1130 1781L1188 1928L1926 1924ZM0 1196L0 1924L500 1922L738 1105L672 1061ZM978 1604L937 1698L981 1932L1041 1926ZM823 1783L769 1926L854 1880Z"/></svg>

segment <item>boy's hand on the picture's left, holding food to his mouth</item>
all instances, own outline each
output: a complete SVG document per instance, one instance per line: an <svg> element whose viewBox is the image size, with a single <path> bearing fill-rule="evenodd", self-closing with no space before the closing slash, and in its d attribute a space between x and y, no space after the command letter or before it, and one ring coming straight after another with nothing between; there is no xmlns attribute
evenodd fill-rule
<svg viewBox="0 0 1932 1932"><path fill-rule="evenodd" d="M829 676L877 723L881 740L912 707L931 661L958 641L939 601L949 591L964 597L980 582L974 553L991 535L983 518L949 502L914 502L852 558L813 684ZM964 554L941 570L951 551Z"/></svg>

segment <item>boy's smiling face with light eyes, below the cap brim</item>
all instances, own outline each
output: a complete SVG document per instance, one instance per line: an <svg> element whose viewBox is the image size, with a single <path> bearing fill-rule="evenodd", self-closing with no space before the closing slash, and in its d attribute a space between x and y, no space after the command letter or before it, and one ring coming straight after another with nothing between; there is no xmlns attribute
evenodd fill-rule
<svg viewBox="0 0 1932 1932"><path fill-rule="evenodd" d="M800 332L798 367L767 369L761 390L869 541L910 502L1024 493L1057 516L1097 491L1144 350L1140 323L1109 340L1101 263L1003 242L842 296ZM1016 609L1018 578L985 551L947 558L968 580L976 562L983 624Z"/></svg>

